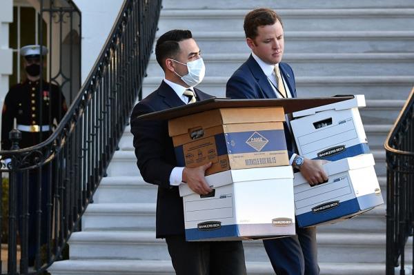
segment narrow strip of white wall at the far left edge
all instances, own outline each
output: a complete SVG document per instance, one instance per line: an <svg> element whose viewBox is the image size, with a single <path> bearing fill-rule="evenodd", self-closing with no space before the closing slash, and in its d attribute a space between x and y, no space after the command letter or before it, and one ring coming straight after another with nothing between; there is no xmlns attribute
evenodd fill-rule
<svg viewBox="0 0 414 275"><path fill-rule="evenodd" d="M9 23L13 21L13 0L1 0L0 8L0 106L9 89L12 74L12 50L9 48Z"/></svg>

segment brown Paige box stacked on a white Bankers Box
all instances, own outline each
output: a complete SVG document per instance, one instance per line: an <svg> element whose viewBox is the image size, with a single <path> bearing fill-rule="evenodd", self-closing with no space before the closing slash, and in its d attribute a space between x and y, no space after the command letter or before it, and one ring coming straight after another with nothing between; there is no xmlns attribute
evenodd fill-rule
<svg viewBox="0 0 414 275"><path fill-rule="evenodd" d="M169 121L178 165L213 163L206 171L213 192L179 186L188 241L295 234L284 117L281 107L221 108Z"/></svg>

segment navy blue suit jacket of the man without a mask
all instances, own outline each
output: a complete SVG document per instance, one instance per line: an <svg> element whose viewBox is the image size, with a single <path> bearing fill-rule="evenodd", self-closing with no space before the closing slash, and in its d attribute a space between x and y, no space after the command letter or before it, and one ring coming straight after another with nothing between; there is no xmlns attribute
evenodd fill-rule
<svg viewBox="0 0 414 275"><path fill-rule="evenodd" d="M295 75L287 63L279 63L280 72L286 81L292 97L296 97ZM228 79L226 97L230 99L276 99L277 96L269 83L266 74L253 56L244 62ZM292 156L292 136L285 125L288 156Z"/></svg>

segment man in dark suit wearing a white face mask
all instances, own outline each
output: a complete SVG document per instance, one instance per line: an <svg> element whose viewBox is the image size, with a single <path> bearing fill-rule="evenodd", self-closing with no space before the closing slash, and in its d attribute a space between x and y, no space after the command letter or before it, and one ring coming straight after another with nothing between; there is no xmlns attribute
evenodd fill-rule
<svg viewBox="0 0 414 275"><path fill-rule="evenodd" d="M241 241L186 242L183 200L178 185L184 181L197 194L208 194L204 172L211 163L195 168L177 167L168 121L139 121L141 114L173 108L212 96L195 85L204 77L200 50L189 30L170 30L155 47L165 78L155 92L132 110L137 165L144 180L158 185L157 238L166 238L176 274L246 274Z"/></svg>

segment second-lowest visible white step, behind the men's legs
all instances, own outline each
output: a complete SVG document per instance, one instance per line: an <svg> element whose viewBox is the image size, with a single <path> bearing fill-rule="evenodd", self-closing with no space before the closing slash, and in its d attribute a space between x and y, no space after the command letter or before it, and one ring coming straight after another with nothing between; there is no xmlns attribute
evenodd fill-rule
<svg viewBox="0 0 414 275"><path fill-rule="evenodd" d="M318 257L326 263L384 263L385 234L327 233L317 235ZM117 249L122 247L122 249ZM406 246L412 249L412 242ZM268 261L262 241L244 241L246 261ZM407 251L407 258L411 252ZM70 258L168 260L164 240L155 232L75 232L70 238Z"/></svg>

